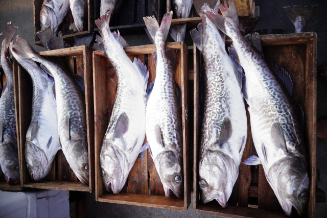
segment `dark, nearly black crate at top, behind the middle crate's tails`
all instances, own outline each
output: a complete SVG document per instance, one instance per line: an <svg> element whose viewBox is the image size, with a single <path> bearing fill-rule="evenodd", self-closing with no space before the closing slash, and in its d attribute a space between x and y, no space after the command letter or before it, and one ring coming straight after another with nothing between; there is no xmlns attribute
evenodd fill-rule
<svg viewBox="0 0 327 218"><path fill-rule="evenodd" d="M100 2L95 1L94 17L100 18ZM155 16L160 21L166 12L165 0L124 0L119 14L110 20L110 30L119 30L121 35L136 35L145 33L145 23L143 17ZM95 31L99 31L94 25Z"/></svg>

